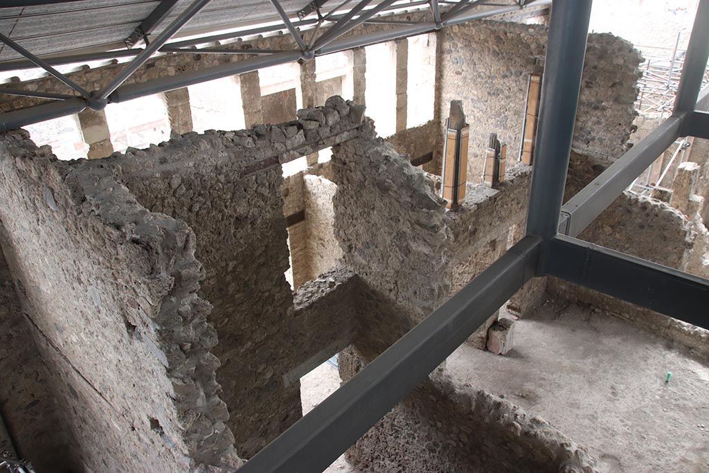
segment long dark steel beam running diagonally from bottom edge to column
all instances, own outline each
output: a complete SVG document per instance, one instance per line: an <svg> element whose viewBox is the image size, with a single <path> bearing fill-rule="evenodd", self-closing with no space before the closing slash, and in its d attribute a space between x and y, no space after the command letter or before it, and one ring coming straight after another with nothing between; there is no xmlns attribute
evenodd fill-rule
<svg viewBox="0 0 709 473"><path fill-rule="evenodd" d="M238 473L322 472L532 278L540 244L511 247Z"/></svg>

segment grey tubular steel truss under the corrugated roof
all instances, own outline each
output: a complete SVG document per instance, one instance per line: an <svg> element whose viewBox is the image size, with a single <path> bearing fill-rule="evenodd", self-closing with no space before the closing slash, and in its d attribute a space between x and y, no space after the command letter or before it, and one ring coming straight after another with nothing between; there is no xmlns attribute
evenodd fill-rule
<svg viewBox="0 0 709 473"><path fill-rule="evenodd" d="M72 0L12 0L8 6L31 6L50 3L62 3ZM149 39L149 35L174 9L175 0L162 0L160 4L150 13L143 23L125 39L126 50L91 52L85 55L69 55L64 57L51 57L43 59L33 55L30 51L22 48L10 38L0 34L0 43L5 43L9 48L20 52L27 60L11 61L0 63L0 71L20 69L23 67L42 67L52 76L67 84L67 86L77 91L79 96L68 94L54 94L42 91L23 91L20 89L0 89L0 94L31 96L36 98L50 99L53 102L38 106L23 108L16 111L0 113L0 132L20 128L22 126L38 123L40 121L59 118L61 116L72 115L84 111L86 108L101 110L109 103L120 103L131 99L138 99L143 96L158 94L160 92L171 91L200 82L213 79L220 79L235 74L252 72L263 67L285 64L297 60L313 60L316 56L327 55L333 52L359 48L366 45L381 43L383 41L406 38L411 35L432 33L445 26L457 25L467 21L489 16L496 16L503 13L520 11L530 4L535 7L549 6L552 0L513 0L510 4L493 3L492 0L459 0L457 2L446 2L452 4L447 11L441 11L437 0L402 1L383 0L375 6L370 4L373 0L361 0L357 2L349 11L342 13L343 9L352 3L352 0L345 0L338 6L333 7L324 16L320 13L327 0L316 0L306 6L306 9L298 12L299 21L291 21L289 15L284 11L280 0L269 0L274 10L281 18L282 24L275 26L264 26L241 30L236 33L222 33L199 38L174 41L169 43L171 38L184 26L191 18L198 15L209 0L194 0L177 18L172 21L164 30L157 35L157 38ZM509 0L508 0L509 1ZM442 3L442 2L441 2ZM489 9L478 9L476 7L489 6ZM401 11L402 9L424 9L430 8L432 21L411 22L393 21L382 18L374 18L386 12ZM318 18L306 18L309 14L317 12ZM362 23L386 23L393 25L392 28L376 33L350 36L342 38L342 35ZM316 37L320 27L327 24L329 28ZM306 43L303 34L298 28L314 27L315 33L310 43ZM258 35L279 30L288 30L297 45L293 50L235 50L226 48L195 48L197 45L206 43L217 43L219 41L234 40L249 35ZM143 48L130 49L130 47L140 43L145 43ZM210 53L224 55L249 55L245 60L230 62L228 64L207 67L194 72L177 74L172 77L161 77L139 84L124 85L136 70L142 67L147 60L156 53ZM123 70L101 90L86 91L79 84L76 84L65 74L58 72L55 65L70 64L72 62L86 62L91 60L108 60L117 57L132 57Z"/></svg>

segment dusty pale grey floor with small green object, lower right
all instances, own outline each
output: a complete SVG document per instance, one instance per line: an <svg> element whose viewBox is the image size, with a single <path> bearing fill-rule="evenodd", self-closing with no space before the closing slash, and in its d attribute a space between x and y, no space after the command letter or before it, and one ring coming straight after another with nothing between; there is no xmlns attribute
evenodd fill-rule
<svg viewBox="0 0 709 473"><path fill-rule="evenodd" d="M460 347L451 374L542 416L585 445L601 472L709 472L709 360L555 301L515 330L505 356Z"/></svg>

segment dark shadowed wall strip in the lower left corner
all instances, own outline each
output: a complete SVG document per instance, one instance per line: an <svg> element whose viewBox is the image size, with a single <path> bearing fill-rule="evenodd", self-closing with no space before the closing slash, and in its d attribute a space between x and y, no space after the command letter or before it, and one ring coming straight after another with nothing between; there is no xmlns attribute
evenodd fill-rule
<svg viewBox="0 0 709 473"><path fill-rule="evenodd" d="M1 228L1 226L0 226ZM5 237L0 237L5 240ZM0 413L12 442L0 435L0 452L17 448L38 473L77 469L69 438L61 427L49 373L40 357L30 323L0 253ZM1 427L0 427L1 428ZM13 445L14 443L14 445Z"/></svg>

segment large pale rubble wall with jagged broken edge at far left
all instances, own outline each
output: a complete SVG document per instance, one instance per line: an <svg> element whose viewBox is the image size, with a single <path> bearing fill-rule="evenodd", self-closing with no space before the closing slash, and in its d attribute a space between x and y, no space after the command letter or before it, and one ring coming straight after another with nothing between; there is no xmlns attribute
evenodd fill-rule
<svg viewBox="0 0 709 473"><path fill-rule="evenodd" d="M25 132L2 135L0 163L3 249L79 469L238 467L194 233Z"/></svg>

